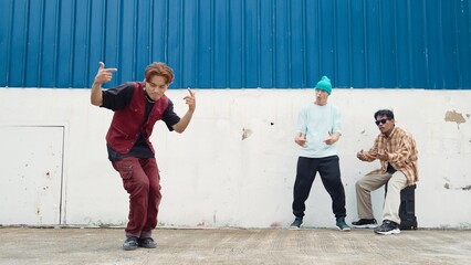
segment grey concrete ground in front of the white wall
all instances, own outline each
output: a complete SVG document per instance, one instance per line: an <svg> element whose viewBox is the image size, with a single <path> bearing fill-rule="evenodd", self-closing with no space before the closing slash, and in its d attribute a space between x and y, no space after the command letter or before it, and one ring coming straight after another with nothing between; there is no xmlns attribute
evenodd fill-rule
<svg viewBox="0 0 471 265"><path fill-rule="evenodd" d="M157 229L123 251L123 229L0 226L0 264L470 264L471 230Z"/></svg>

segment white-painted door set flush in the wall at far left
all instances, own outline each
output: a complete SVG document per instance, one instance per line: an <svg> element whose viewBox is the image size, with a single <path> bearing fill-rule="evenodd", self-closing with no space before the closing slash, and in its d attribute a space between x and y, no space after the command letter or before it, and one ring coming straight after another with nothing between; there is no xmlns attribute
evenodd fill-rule
<svg viewBox="0 0 471 265"><path fill-rule="evenodd" d="M0 127L0 224L61 223L63 126Z"/></svg>

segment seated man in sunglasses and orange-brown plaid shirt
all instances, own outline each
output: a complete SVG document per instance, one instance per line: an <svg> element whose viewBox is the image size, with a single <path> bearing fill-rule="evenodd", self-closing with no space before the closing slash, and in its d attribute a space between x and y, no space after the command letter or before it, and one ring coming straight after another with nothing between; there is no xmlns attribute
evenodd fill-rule
<svg viewBox="0 0 471 265"><path fill-rule="evenodd" d="M354 227L376 227L373 215L370 192L387 184L383 209L383 224L375 229L378 234L400 233L399 206L400 191L418 181L418 152L412 136L395 126L394 113L380 109L374 115L380 134L368 151L360 150L357 158L362 161L380 161L381 168L374 170L356 182L356 198L359 221Z"/></svg>

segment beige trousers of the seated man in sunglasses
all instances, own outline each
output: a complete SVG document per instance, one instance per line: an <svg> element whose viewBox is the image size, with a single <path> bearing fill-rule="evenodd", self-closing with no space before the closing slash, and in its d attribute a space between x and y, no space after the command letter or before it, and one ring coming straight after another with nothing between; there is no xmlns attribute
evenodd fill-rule
<svg viewBox="0 0 471 265"><path fill-rule="evenodd" d="M400 172L367 174L359 179L356 184L356 201L359 219L374 219L371 209L371 191L388 186L385 204L383 208L383 221L389 220L400 224L399 206L400 191L407 187L407 178Z"/></svg>

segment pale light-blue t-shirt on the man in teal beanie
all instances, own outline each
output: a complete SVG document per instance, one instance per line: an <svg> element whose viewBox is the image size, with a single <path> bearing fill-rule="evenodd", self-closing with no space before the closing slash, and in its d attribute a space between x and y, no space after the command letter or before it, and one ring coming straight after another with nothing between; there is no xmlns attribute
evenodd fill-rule
<svg viewBox="0 0 471 265"><path fill-rule="evenodd" d="M305 105L297 117L297 131L306 135L306 147L302 147L300 157L323 158L337 155L336 144L326 145L328 131L342 134L341 109L327 103L318 106Z"/></svg>

